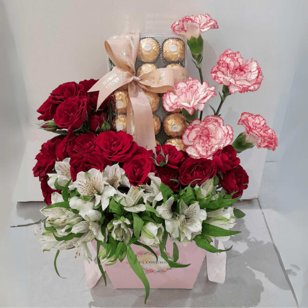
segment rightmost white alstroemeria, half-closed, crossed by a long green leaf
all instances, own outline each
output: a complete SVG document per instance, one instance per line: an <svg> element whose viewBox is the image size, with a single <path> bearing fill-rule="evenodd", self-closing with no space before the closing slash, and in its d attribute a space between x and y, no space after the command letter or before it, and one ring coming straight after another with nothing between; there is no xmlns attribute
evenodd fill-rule
<svg viewBox="0 0 308 308"><path fill-rule="evenodd" d="M236 224L235 217L233 214L233 206L229 206L227 208L219 208L217 210L208 212L206 223L226 230L233 228L234 225ZM228 241L230 237L220 236L216 237L216 239L225 242Z"/></svg>

